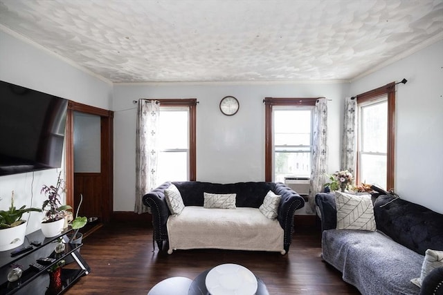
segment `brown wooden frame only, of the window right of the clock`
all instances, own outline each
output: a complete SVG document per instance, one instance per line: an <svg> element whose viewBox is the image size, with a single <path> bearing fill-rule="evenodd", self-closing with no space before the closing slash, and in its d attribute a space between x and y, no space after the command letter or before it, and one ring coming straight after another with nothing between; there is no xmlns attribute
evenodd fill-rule
<svg viewBox="0 0 443 295"><path fill-rule="evenodd" d="M321 97L266 97L264 102L264 181L273 181L273 106L315 106ZM314 114L313 114L314 115ZM312 130L311 130L312 131ZM312 135L311 135L312 136Z"/></svg>

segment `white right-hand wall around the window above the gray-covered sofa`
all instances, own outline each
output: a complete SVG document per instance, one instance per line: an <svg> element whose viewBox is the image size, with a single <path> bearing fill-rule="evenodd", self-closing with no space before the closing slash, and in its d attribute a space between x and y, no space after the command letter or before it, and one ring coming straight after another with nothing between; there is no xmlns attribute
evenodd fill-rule
<svg viewBox="0 0 443 295"><path fill-rule="evenodd" d="M397 85L395 191L443 213L443 41L353 82L357 95L406 78Z"/></svg>

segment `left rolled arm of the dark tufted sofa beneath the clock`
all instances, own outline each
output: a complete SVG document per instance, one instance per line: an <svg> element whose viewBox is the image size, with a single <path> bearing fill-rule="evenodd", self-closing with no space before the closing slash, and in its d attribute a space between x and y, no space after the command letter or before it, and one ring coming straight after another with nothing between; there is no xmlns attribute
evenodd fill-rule
<svg viewBox="0 0 443 295"><path fill-rule="evenodd" d="M168 189L170 182L161 184L143 196L143 204L149 206L152 211L152 229L154 231L154 240L157 242L168 240L168 229L166 222L171 215L168 204L165 200L165 189Z"/></svg>

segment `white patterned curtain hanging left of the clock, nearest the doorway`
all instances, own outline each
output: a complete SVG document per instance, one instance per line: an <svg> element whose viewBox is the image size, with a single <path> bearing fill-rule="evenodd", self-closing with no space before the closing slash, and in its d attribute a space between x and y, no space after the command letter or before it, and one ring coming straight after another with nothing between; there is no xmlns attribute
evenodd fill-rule
<svg viewBox="0 0 443 295"><path fill-rule="evenodd" d="M160 104L155 100L138 99L136 130L136 213L150 211L142 198L155 188L159 149L157 137Z"/></svg>

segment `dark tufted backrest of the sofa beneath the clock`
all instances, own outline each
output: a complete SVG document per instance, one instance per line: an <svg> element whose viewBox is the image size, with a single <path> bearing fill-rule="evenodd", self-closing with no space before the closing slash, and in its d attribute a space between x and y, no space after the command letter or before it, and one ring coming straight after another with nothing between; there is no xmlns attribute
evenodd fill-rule
<svg viewBox="0 0 443 295"><path fill-rule="evenodd" d="M266 193L275 192L274 182L237 182L219 184L213 182L172 182L181 193L185 206L203 206L204 193L237 193L236 207L258 208Z"/></svg>

